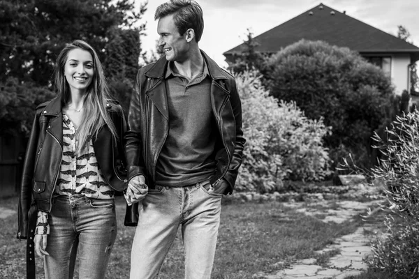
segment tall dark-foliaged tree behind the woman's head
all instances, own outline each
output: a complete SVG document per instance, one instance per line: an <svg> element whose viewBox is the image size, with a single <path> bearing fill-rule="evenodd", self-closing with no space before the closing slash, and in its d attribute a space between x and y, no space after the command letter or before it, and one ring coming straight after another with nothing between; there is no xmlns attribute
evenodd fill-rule
<svg viewBox="0 0 419 279"><path fill-rule="evenodd" d="M86 40L96 49L111 89L121 87L115 82L127 80L132 80L128 84L132 88L145 29L145 24L138 22L146 6L143 3L135 8L131 0L0 1L0 94L20 96L25 92L28 100L38 100L31 96L38 89L52 91L55 59L64 45L75 39ZM124 80L119 79L122 75ZM131 94L124 88L115 94L119 100ZM40 102L50 98L43 96ZM32 116L36 105L24 103L23 114ZM10 114L1 115L1 123L24 127L19 119L10 119Z"/></svg>

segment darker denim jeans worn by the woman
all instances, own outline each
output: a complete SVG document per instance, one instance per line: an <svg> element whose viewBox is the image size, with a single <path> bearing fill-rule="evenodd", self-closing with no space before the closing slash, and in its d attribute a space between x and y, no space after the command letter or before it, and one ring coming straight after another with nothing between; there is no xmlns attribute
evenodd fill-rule
<svg viewBox="0 0 419 279"><path fill-rule="evenodd" d="M59 196L52 199L48 218L50 255L44 256L45 278L73 278L77 254L80 279L105 278L117 236L114 199Z"/></svg>

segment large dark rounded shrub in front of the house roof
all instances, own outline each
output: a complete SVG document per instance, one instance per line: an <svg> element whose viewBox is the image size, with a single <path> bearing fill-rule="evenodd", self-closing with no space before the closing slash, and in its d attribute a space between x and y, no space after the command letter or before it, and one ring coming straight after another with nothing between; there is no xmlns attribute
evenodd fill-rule
<svg viewBox="0 0 419 279"><path fill-rule="evenodd" d="M381 69L348 48L307 40L272 56L267 68L272 96L295 101L309 119L323 117L332 127L325 146L335 165L348 150L358 165L369 167L369 139L385 119L393 93Z"/></svg>

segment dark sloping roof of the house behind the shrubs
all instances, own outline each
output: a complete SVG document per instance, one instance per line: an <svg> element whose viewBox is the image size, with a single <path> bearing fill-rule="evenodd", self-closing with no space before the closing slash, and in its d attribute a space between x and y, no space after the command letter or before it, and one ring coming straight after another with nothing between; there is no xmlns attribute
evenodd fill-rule
<svg viewBox="0 0 419 279"><path fill-rule="evenodd" d="M323 3L253 39L259 44L255 49L257 52L274 53L302 38L324 40L330 45L349 47L361 53L417 52L415 60L419 59L419 47ZM245 50L247 47L242 43L223 55L240 54Z"/></svg>

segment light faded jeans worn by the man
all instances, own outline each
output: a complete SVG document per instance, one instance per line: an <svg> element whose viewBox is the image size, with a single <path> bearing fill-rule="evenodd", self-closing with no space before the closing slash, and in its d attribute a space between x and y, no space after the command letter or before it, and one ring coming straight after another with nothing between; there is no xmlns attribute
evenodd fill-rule
<svg viewBox="0 0 419 279"><path fill-rule="evenodd" d="M222 194L209 182L172 188L156 186L139 204L131 250L131 279L159 278L161 265L182 227L185 278L210 279L220 225Z"/></svg>

